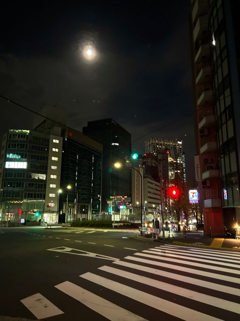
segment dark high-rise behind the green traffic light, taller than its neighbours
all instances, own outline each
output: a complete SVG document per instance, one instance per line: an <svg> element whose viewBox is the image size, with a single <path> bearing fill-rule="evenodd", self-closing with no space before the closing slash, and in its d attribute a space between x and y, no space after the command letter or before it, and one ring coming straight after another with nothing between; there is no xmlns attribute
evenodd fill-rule
<svg viewBox="0 0 240 321"><path fill-rule="evenodd" d="M124 164L125 156L131 154L131 134L111 118L88 121L88 125L83 127L83 134L103 145L101 200L102 211L107 212L110 196L131 197L130 170L114 168L115 162Z"/></svg>

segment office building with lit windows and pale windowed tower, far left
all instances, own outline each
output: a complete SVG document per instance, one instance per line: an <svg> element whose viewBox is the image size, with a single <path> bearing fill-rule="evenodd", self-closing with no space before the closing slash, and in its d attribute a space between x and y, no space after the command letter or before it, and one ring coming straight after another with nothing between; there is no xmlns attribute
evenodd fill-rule
<svg viewBox="0 0 240 321"><path fill-rule="evenodd" d="M60 177L52 180L59 171L52 171L49 158L58 158L54 148L61 151L61 138L54 134L9 130L4 135L0 161L2 220L37 220L50 207L55 212L51 219L57 219L55 188L51 187L59 186ZM58 161L54 164L61 165Z"/></svg>

